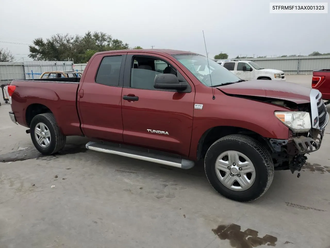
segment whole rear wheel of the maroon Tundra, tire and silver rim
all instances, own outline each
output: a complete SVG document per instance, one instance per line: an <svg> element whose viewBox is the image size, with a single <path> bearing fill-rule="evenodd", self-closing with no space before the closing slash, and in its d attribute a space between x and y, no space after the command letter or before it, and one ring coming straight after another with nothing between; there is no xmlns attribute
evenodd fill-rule
<svg viewBox="0 0 330 248"><path fill-rule="evenodd" d="M60 132L52 113L34 116L30 130L33 145L44 155L54 154L65 145L66 136Z"/></svg>

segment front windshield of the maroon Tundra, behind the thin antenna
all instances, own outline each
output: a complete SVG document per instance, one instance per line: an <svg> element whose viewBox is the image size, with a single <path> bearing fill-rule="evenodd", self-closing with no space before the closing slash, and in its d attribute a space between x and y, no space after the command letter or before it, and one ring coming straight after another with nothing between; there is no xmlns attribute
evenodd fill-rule
<svg viewBox="0 0 330 248"><path fill-rule="evenodd" d="M220 86L226 83L234 83L240 80L232 72L224 68L219 63L208 59L202 55L195 54L182 54L174 55L180 63L182 63L194 76L204 85L211 86ZM211 77L210 77L211 72ZM212 80L212 85L211 85Z"/></svg>

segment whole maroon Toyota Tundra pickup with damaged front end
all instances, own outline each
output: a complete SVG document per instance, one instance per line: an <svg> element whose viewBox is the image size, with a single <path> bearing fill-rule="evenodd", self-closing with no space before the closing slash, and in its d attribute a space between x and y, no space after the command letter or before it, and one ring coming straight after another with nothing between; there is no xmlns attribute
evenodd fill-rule
<svg viewBox="0 0 330 248"><path fill-rule="evenodd" d="M81 78L14 80L8 90L11 119L43 154L80 135L99 141L87 149L182 169L204 159L215 190L243 202L267 191L274 170L299 176L329 120L318 90L241 80L175 50L100 52Z"/></svg>

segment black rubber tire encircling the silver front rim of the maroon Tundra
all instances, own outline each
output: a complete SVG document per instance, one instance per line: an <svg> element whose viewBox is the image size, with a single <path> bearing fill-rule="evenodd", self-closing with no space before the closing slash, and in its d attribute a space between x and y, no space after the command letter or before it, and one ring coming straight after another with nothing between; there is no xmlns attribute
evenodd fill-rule
<svg viewBox="0 0 330 248"><path fill-rule="evenodd" d="M236 191L224 186L215 172L217 157L226 151L238 151L245 154L253 163L255 179L246 190ZM269 188L274 177L274 164L269 152L256 140L245 135L228 135L213 143L208 149L204 168L206 176L214 189L231 200L248 202L262 196Z"/></svg>

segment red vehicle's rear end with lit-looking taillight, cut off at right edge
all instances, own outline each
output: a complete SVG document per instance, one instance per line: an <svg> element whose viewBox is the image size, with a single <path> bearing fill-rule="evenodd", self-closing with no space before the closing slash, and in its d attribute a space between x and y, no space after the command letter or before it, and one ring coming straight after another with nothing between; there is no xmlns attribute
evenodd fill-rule
<svg viewBox="0 0 330 248"><path fill-rule="evenodd" d="M312 88L322 93L323 100L330 100L330 69L313 71Z"/></svg>

